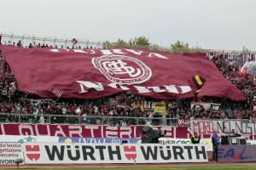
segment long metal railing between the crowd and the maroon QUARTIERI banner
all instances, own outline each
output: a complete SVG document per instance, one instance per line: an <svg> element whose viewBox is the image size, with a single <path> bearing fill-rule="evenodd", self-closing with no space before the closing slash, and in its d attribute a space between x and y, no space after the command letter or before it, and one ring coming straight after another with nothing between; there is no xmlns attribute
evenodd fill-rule
<svg viewBox="0 0 256 170"><path fill-rule="evenodd" d="M131 116L72 116L72 115L32 115L16 113L0 113L0 122L19 123L61 123L61 124L90 124L90 125L151 125L157 126L177 126L176 118L166 117L131 117Z"/></svg>

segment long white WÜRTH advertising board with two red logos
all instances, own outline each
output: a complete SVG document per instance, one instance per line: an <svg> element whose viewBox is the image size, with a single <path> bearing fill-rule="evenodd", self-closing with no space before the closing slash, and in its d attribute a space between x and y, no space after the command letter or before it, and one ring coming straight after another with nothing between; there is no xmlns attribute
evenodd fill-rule
<svg viewBox="0 0 256 170"><path fill-rule="evenodd" d="M24 144L26 164L207 162L202 145Z"/></svg>

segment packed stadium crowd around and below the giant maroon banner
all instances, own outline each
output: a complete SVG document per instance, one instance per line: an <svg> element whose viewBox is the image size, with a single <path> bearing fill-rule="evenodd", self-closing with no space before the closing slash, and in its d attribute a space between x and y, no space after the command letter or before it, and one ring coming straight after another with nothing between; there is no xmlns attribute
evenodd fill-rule
<svg viewBox="0 0 256 170"><path fill-rule="evenodd" d="M8 45L22 47L21 42ZM30 43L27 48L44 48L48 45L35 45ZM49 46L52 47L52 46ZM57 48L57 47L55 47ZM63 46L61 46L63 48ZM73 48L81 48L74 47ZM88 48L88 47L87 47ZM90 47L92 48L92 47ZM253 105L256 105L256 81L255 77L241 71L241 65L232 63L223 56L215 56L212 61L218 67L227 79L240 88L246 96L245 102L234 102L227 99L196 98L178 99L166 101L172 105L166 104L166 117L189 120L189 118L209 118L209 119L255 119L256 111L253 111ZM81 100L81 99L38 99L34 94L23 94L19 91L15 77L12 74L9 65L4 60L0 50L0 113L17 113L21 115L31 114L34 122L42 122L40 115L73 115L73 116L132 116L132 117L159 117L158 113L152 109L154 106L141 107L139 101L147 100L154 104L154 100L145 99L129 93L117 94L108 98ZM192 107L191 102L214 102L221 106L216 110L213 108ZM145 106L144 102L144 106ZM145 109L147 108L147 109ZM26 116L24 116L26 119ZM83 120L86 120L84 118ZM9 116L9 121L15 120L15 117ZM96 122L96 120L94 120ZM132 122L130 122L132 123Z"/></svg>

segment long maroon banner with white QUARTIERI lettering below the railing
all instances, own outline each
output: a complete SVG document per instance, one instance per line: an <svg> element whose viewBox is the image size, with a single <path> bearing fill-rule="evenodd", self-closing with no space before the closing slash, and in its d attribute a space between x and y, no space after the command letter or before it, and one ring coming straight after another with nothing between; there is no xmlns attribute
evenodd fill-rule
<svg viewBox="0 0 256 170"><path fill-rule="evenodd" d="M189 127L158 126L166 137L190 138ZM107 125L0 124L0 135L64 136L80 138L140 138L143 126L110 127Z"/></svg>

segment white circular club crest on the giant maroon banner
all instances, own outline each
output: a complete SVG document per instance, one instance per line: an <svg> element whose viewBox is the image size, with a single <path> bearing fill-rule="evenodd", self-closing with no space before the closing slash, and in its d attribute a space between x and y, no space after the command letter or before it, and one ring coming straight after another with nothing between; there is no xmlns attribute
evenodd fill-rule
<svg viewBox="0 0 256 170"><path fill-rule="evenodd" d="M91 62L109 81L119 84L138 84L152 76L150 68L141 60L125 55L103 55Z"/></svg>

